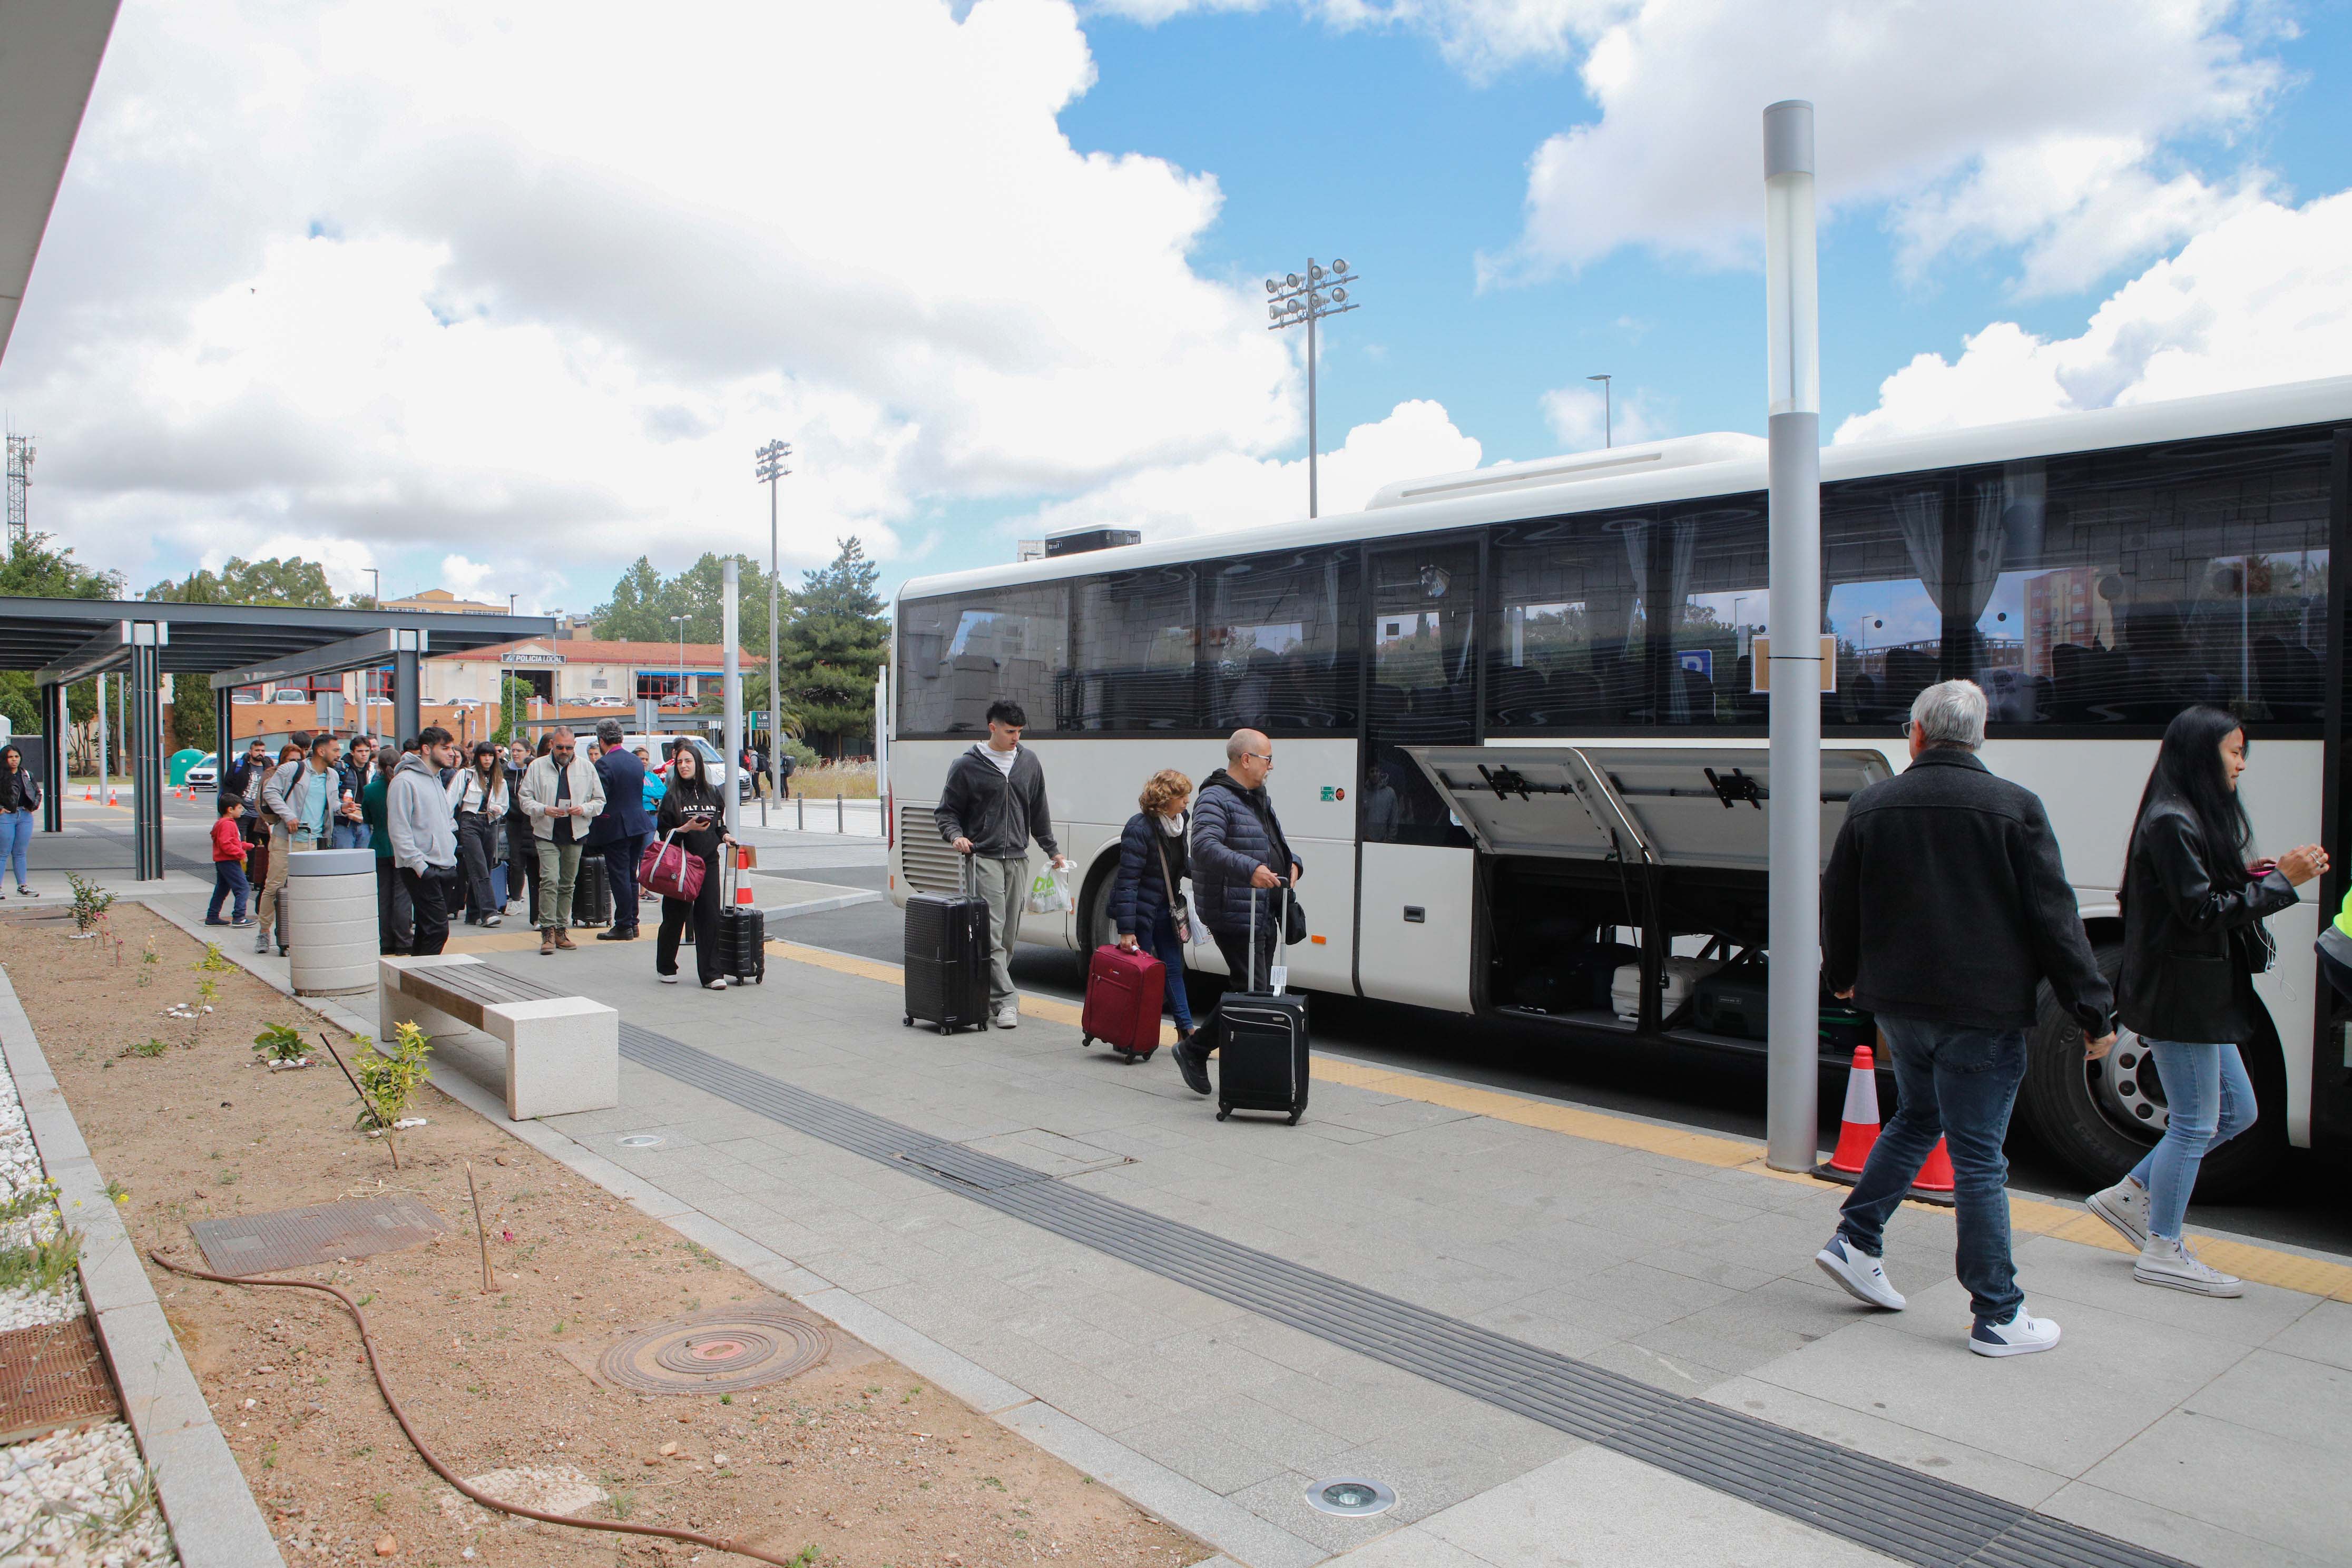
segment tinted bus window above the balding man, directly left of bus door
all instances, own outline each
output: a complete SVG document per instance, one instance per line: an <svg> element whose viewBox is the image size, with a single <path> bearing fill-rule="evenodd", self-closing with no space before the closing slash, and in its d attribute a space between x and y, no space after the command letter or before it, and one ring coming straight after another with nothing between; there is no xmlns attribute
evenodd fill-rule
<svg viewBox="0 0 2352 1568"><path fill-rule="evenodd" d="M1355 550L1202 562L1209 729L1352 731L1359 597Z"/></svg>

